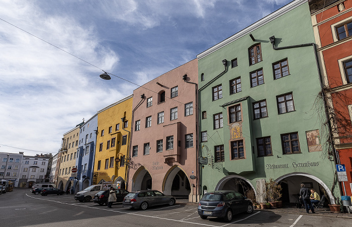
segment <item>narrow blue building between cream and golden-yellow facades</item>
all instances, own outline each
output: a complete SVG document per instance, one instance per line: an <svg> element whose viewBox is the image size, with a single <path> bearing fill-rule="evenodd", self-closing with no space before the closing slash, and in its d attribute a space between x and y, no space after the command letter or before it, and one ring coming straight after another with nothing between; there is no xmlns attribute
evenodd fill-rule
<svg viewBox="0 0 352 227"><path fill-rule="evenodd" d="M74 179L74 193L92 184L93 165L97 143L98 114L80 127L76 158L77 177Z"/></svg>

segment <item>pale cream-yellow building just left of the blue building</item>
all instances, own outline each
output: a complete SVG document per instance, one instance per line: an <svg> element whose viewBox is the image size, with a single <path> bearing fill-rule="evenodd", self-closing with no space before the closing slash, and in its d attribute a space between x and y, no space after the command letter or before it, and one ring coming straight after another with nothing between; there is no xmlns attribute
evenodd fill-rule
<svg viewBox="0 0 352 227"><path fill-rule="evenodd" d="M71 177L71 169L76 167L77 147L79 146L79 130L84 122L77 124L75 128L63 134L61 144L61 157L58 159L59 167L56 187L66 191L73 186Z"/></svg>

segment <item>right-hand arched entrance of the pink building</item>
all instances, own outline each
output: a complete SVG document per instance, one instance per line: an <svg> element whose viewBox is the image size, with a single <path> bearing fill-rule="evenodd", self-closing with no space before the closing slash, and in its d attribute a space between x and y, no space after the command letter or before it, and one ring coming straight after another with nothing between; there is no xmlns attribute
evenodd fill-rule
<svg viewBox="0 0 352 227"><path fill-rule="evenodd" d="M190 181L179 166L171 167L165 174L162 192L173 196L189 196L191 194Z"/></svg>

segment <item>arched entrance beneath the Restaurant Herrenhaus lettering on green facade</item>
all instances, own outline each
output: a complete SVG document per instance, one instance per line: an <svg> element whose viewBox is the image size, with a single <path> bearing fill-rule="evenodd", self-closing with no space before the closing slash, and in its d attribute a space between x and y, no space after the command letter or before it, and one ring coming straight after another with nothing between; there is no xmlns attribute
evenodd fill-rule
<svg viewBox="0 0 352 227"><path fill-rule="evenodd" d="M283 188L283 198L289 198L290 203L298 202L298 196L301 189L301 184L309 189L314 189L320 197L325 195L331 204L335 204L335 199L329 188L319 178L307 173L290 173L283 175L275 180L279 184L287 184L287 188Z"/></svg>

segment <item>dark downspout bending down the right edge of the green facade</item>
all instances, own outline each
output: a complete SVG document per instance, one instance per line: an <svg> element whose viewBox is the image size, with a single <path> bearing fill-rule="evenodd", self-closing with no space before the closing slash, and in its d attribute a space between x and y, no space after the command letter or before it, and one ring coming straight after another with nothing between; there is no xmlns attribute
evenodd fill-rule
<svg viewBox="0 0 352 227"><path fill-rule="evenodd" d="M324 103L324 110L325 110L325 117L327 119L327 123L328 123L328 128L329 128L329 140L331 141L331 146L332 146L332 151L333 151L333 159L334 159L334 163L336 164L340 164L340 158L338 153L336 152L335 146L334 146L334 142L333 142L333 137L332 137L332 126L331 126L331 121L329 118L329 112L326 108L327 104L326 104L326 99L325 99L325 93L323 91L324 89L324 85L322 82L322 76L321 76L321 71L320 71L320 67L319 67L319 60L318 60L318 56L317 56L317 50L316 50L316 45L315 43L304 43L304 44L298 44L298 45L292 45L292 46L283 46L283 47L275 47L275 36L269 37L270 42L273 45L273 49L274 50L283 50L283 49L291 49L291 48L297 48L297 47L306 47L306 46L313 46L314 49L314 56L315 56L315 62L317 65L317 69L318 69L318 75L319 75L319 83L320 83L320 89L321 89L321 96L323 98L323 103ZM343 195L342 193L342 186L341 183L338 183L339 185L339 189L340 189L340 195ZM332 193L332 192L331 192Z"/></svg>

